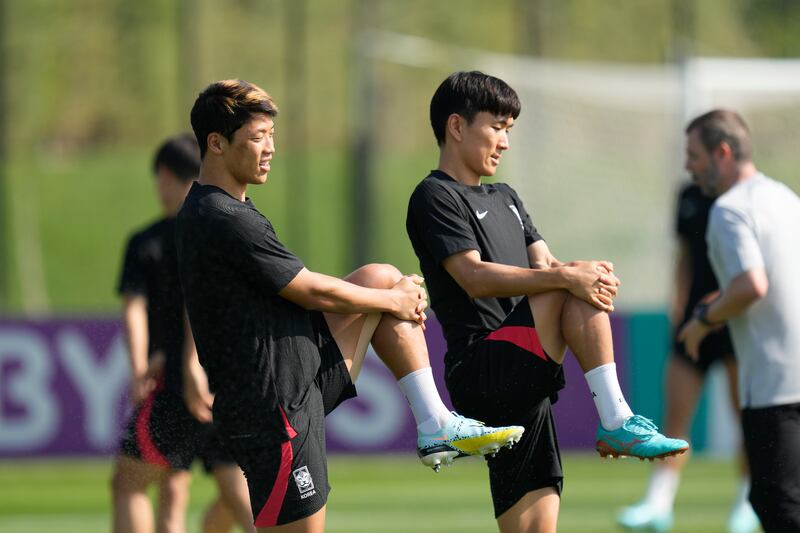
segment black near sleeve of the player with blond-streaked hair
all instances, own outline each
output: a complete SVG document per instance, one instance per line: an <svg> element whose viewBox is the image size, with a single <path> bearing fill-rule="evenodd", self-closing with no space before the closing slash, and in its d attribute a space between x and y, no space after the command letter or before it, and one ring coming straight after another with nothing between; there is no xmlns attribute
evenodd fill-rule
<svg viewBox="0 0 800 533"><path fill-rule="evenodd" d="M277 294L303 269L303 262L278 240L266 219L238 219L233 223L245 271L264 294Z"/></svg>

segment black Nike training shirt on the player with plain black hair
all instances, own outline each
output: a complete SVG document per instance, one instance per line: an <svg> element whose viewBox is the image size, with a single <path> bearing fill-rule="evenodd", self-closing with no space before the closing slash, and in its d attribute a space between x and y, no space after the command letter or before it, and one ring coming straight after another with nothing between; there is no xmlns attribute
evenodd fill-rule
<svg viewBox="0 0 800 533"><path fill-rule="evenodd" d="M522 296L473 300L442 261L477 250L483 261L528 268L528 245L542 237L508 185L463 185L439 170L431 171L411 195L406 230L444 329L446 361L452 362L458 352L497 329Z"/></svg>

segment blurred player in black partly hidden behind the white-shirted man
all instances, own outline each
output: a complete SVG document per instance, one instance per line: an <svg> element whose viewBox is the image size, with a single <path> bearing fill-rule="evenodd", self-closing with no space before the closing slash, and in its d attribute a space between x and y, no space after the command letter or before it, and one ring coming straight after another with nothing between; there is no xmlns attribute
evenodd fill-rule
<svg viewBox="0 0 800 533"><path fill-rule="evenodd" d="M700 187L689 184L681 189L676 213L678 257L675 265L675 296L672 302L673 331L681 330L692 318L695 306L703 297L716 293L717 280L708 262L706 228L708 212L714 199L703 194ZM725 365L731 406L739 413L736 358L727 327L710 334L700 345L700 356L691 358L682 342L677 340L667 362L665 393L666 413L664 429L670 435L688 440L692 416L700 400L703 382L709 367L714 363ZM686 466L689 454L675 457L659 465L650 478L644 499L626 507L617 521L629 529L653 528L665 531L672 526L672 508L678 491L680 472ZM741 451L742 482L728 519L728 531L747 533L758 528L756 517L747 494L750 479L744 451Z"/></svg>

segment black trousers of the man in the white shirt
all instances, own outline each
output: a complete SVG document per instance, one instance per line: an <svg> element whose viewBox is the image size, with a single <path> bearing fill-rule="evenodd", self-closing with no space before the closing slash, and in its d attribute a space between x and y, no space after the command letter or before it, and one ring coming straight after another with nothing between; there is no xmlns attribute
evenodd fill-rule
<svg viewBox="0 0 800 533"><path fill-rule="evenodd" d="M800 403L742 409L750 503L766 533L800 531Z"/></svg>

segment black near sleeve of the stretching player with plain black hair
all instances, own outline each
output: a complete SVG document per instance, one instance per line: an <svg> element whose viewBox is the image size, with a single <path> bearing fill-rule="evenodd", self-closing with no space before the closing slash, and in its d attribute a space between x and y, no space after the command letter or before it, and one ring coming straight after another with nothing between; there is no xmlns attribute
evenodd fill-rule
<svg viewBox="0 0 800 533"><path fill-rule="evenodd" d="M422 182L408 205L417 237L437 263L465 250L480 250L469 212L446 185Z"/></svg>

